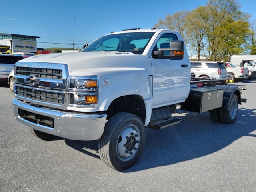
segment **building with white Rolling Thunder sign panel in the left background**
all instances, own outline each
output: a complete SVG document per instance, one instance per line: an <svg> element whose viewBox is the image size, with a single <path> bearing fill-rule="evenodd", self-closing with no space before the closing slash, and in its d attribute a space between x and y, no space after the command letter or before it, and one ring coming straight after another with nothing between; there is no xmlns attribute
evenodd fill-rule
<svg viewBox="0 0 256 192"><path fill-rule="evenodd" d="M4 52L7 48L14 52L37 52L36 39L37 36L18 35L0 33L0 52ZM6 52L6 51L5 51Z"/></svg>

